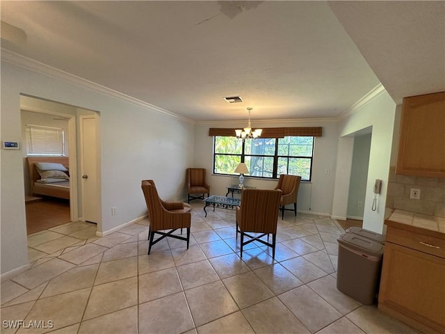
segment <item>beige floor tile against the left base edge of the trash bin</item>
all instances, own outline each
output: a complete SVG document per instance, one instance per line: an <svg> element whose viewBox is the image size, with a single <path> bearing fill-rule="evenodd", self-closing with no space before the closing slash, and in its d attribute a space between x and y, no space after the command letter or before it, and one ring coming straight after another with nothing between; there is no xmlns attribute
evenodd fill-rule
<svg viewBox="0 0 445 334"><path fill-rule="evenodd" d="M349 312L359 308L362 303L355 301L346 296L343 292L337 289L337 280L332 276L325 276L314 280L307 284L314 292L321 296L327 303L330 303L334 308L339 310L343 315L347 315Z"/></svg>

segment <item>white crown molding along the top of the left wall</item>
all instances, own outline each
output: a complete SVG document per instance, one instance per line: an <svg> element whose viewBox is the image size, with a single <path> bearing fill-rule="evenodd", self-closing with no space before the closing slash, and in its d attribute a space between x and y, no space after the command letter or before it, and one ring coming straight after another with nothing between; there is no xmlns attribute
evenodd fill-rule
<svg viewBox="0 0 445 334"><path fill-rule="evenodd" d="M115 99L121 100L123 102L128 102L135 106L140 106L144 109L148 109L149 111L153 111L155 113L160 113L164 116L169 116L172 118L178 118L180 120L184 120L186 122L191 122L195 124L194 120L189 118L179 116L176 113L172 113L171 111L159 108L159 106L154 106L153 104L149 104L147 102L143 102L134 97L126 95L124 93L120 93L117 90L113 90L111 88L107 88L105 86L96 84L95 82L89 81L87 79L83 79L81 77L77 77L74 74L65 72L63 70L59 70L56 67L49 66L47 64L41 63L40 61L35 61L32 58L28 58L26 56L22 56L21 54L17 54L13 51L10 51L5 48L1 48L1 60L6 61L7 63L11 63L13 65L26 68L26 70L31 70L33 72L37 72L47 77L52 77L54 79L60 79L62 81L67 82L68 84L72 84L75 86L79 86L81 88L86 88L88 90L92 90L95 93L99 93L102 95L106 95L109 97L113 97Z"/></svg>

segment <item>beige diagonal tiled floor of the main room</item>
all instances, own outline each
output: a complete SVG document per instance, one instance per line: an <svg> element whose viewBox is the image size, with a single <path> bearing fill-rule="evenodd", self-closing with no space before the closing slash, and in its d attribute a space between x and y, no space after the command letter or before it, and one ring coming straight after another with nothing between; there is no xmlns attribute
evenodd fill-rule
<svg viewBox="0 0 445 334"><path fill-rule="evenodd" d="M147 255L147 224L30 235L31 269L1 282L1 333L416 333L337 290L343 229L330 218L286 212L275 261L261 244L241 260L233 211L205 218L195 201L188 250L164 239Z"/></svg>

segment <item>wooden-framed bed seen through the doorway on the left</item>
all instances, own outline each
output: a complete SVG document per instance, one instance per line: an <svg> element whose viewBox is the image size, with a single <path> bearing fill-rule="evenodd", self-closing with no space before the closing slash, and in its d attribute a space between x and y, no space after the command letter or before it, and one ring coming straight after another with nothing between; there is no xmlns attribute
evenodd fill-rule
<svg viewBox="0 0 445 334"><path fill-rule="evenodd" d="M56 198L70 199L70 180L60 178L60 180L54 180L54 183L42 183L42 177L38 172L35 164L39 162L61 164L68 166L68 157L27 157L29 166L29 180L31 185L31 194L33 196L51 196ZM64 171L67 175L69 173Z"/></svg>

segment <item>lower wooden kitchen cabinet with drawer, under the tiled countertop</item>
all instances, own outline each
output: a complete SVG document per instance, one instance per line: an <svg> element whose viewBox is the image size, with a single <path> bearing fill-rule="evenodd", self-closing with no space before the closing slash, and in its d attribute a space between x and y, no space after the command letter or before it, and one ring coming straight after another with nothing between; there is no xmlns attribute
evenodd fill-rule
<svg viewBox="0 0 445 334"><path fill-rule="evenodd" d="M445 333L445 234L386 224L379 310L423 333Z"/></svg>

